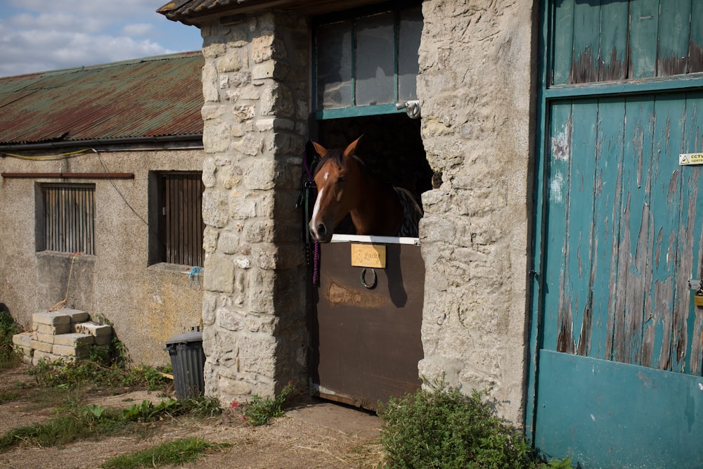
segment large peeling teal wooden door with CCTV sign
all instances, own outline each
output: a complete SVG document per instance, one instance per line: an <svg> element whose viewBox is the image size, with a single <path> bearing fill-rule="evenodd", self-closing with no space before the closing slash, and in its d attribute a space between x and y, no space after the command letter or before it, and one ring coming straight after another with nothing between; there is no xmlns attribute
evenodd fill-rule
<svg viewBox="0 0 703 469"><path fill-rule="evenodd" d="M679 164L703 152L703 1L543 18L528 433L583 467L703 467L703 166Z"/></svg>

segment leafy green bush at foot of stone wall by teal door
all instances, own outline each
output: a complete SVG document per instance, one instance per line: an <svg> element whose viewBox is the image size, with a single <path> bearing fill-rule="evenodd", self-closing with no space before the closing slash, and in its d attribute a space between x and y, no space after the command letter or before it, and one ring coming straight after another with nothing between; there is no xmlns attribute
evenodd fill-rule
<svg viewBox="0 0 703 469"><path fill-rule="evenodd" d="M386 467L537 467L522 432L496 416L487 394L439 383L381 404Z"/></svg>

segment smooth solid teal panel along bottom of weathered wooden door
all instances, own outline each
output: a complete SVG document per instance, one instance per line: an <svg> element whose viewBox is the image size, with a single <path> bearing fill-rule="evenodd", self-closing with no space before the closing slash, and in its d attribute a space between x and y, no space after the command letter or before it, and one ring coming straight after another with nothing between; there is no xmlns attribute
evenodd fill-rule
<svg viewBox="0 0 703 469"><path fill-rule="evenodd" d="M539 360L534 443L546 456L583 468L703 466L703 378L550 351Z"/></svg>

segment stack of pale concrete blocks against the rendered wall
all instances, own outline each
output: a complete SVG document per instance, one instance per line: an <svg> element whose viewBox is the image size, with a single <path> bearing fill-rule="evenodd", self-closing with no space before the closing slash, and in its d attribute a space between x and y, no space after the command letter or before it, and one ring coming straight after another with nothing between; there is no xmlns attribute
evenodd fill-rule
<svg viewBox="0 0 703 469"><path fill-rule="evenodd" d="M25 362L75 360L90 355L91 346L112 343L112 326L90 320L85 311L62 309L32 314L32 330L13 335Z"/></svg>

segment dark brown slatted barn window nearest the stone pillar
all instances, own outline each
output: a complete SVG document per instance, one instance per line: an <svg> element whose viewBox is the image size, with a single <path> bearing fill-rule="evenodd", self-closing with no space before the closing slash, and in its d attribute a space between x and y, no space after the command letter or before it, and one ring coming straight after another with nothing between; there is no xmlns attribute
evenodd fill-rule
<svg viewBox="0 0 703 469"><path fill-rule="evenodd" d="M149 263L202 266L200 172L150 173Z"/></svg>

